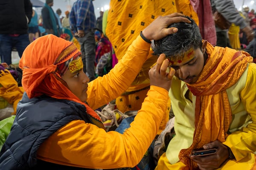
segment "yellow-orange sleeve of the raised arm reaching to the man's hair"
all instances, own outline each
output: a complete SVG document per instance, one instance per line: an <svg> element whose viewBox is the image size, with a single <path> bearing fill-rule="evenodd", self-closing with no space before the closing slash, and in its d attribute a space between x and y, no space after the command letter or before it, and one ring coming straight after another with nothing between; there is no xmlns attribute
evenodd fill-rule
<svg viewBox="0 0 256 170"><path fill-rule="evenodd" d="M89 82L87 103L93 109L121 95L134 81L148 57L150 43L140 36L128 48L124 57L103 77Z"/></svg>

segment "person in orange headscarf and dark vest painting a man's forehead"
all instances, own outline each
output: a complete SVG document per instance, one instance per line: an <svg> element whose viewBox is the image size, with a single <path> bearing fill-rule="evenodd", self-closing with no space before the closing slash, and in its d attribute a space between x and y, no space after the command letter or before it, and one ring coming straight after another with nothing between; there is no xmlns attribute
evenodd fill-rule
<svg viewBox="0 0 256 170"><path fill-rule="evenodd" d="M108 74L91 82L72 42L54 35L32 42L20 59L25 93L0 152L0 169L111 169L138 164L167 107L174 74L166 73L168 60L159 57L149 71L148 96L123 134L106 132L93 110L129 87L148 57L150 40L177 32L167 28L176 22L190 21L183 14L158 17Z"/></svg>

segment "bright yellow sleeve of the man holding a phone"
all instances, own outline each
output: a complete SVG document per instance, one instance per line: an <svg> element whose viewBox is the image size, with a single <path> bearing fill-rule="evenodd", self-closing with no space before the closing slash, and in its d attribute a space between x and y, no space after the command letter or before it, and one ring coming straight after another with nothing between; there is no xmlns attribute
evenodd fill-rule
<svg viewBox="0 0 256 170"><path fill-rule="evenodd" d="M244 109L251 116L252 122L241 130L231 133L223 143L230 147L236 161L246 157L248 153L256 151L256 64L248 67L245 88L241 91L241 102Z"/></svg>

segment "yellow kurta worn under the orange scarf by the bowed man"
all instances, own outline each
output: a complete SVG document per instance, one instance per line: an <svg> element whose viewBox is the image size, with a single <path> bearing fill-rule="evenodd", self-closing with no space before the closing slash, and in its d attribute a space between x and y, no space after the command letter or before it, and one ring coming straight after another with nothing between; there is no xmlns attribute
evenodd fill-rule
<svg viewBox="0 0 256 170"><path fill-rule="evenodd" d="M250 170L255 162L253 152L256 151L256 65L250 63L239 79L231 88L227 89L228 99L233 113L233 121L230 125L230 134L223 143L230 147L236 161L228 161L220 169ZM168 145L157 165L157 170L179 170L184 164L179 161L178 154L181 149L188 148L192 144L195 130L195 96L192 94L192 102L186 99L188 90L185 82L175 77L172 81L172 91L169 96L172 101L172 109L175 114L176 136ZM181 94L181 95L180 95ZM183 114L179 114L183 113ZM251 118L251 121L250 120ZM250 123L248 125L248 123ZM240 130L239 130L240 129ZM238 130L238 131L236 131ZM234 132L236 131L236 132Z"/></svg>

